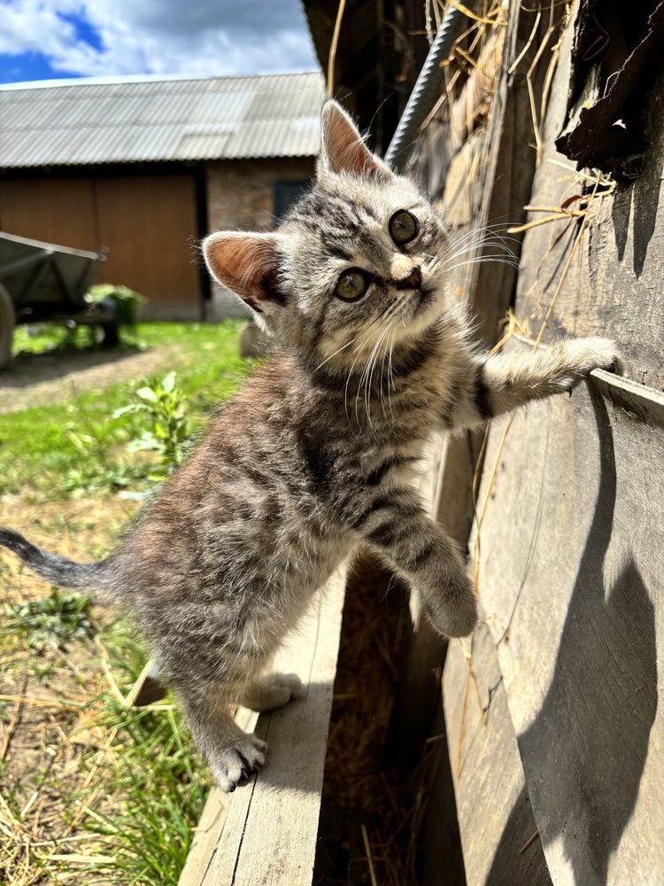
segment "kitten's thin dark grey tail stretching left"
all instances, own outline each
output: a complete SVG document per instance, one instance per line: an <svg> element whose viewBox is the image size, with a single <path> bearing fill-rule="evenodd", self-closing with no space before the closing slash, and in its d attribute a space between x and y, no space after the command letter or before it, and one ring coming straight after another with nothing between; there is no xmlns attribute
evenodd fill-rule
<svg viewBox="0 0 664 886"><path fill-rule="evenodd" d="M51 554L37 548L20 532L0 526L0 545L9 548L40 579L58 587L75 587L89 590L110 590L110 560L100 563L74 563L66 556Z"/></svg>

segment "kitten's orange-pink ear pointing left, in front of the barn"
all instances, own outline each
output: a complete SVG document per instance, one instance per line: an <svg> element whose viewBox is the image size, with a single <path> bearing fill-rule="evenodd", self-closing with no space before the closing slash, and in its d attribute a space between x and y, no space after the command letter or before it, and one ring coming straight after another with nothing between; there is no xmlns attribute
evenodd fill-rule
<svg viewBox="0 0 664 886"><path fill-rule="evenodd" d="M220 230L203 241L205 264L215 280L263 314L285 300L277 281L278 242L277 234Z"/></svg>

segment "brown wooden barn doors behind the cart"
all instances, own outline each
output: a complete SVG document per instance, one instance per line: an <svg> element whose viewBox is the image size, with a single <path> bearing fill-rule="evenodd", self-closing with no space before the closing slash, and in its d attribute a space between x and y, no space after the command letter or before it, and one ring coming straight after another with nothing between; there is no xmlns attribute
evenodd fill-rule
<svg viewBox="0 0 664 886"><path fill-rule="evenodd" d="M0 230L109 253L100 278L148 299L151 320L198 320L193 175L112 175L0 183Z"/></svg>

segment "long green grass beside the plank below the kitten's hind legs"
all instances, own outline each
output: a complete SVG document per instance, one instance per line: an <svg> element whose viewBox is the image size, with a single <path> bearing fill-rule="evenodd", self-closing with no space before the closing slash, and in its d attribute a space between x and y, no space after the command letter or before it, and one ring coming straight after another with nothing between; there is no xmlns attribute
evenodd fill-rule
<svg viewBox="0 0 664 886"><path fill-rule="evenodd" d="M120 686L128 690L143 668L143 650L127 633L124 619L102 639ZM175 884L210 788L207 768L183 737L172 699L142 710L122 707L110 693L103 702L104 726L109 733L117 730L113 743L118 752L104 760L91 784L95 789L103 785L114 802L112 809L102 806L90 817L86 830L103 841L104 855L114 861L91 865L86 882ZM86 767L96 764L95 754L83 760Z"/></svg>

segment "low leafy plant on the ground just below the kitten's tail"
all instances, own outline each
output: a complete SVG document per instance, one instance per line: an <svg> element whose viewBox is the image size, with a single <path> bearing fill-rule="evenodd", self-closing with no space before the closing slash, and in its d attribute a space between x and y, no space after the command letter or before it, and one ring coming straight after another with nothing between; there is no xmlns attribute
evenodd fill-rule
<svg viewBox="0 0 664 886"><path fill-rule="evenodd" d="M66 649L73 640L88 639L95 633L90 615L89 596L62 594L54 587L48 597L7 603L3 633L18 634L31 649Z"/></svg>

